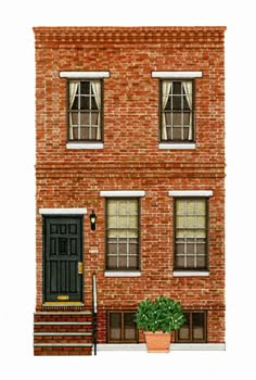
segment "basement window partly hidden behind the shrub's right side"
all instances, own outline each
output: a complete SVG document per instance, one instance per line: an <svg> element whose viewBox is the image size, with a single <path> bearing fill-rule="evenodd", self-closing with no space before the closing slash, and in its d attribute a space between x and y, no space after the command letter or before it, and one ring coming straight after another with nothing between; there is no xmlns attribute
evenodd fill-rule
<svg viewBox="0 0 256 380"><path fill-rule="evenodd" d="M206 343L207 313L183 312L184 325L176 332L177 343Z"/></svg>

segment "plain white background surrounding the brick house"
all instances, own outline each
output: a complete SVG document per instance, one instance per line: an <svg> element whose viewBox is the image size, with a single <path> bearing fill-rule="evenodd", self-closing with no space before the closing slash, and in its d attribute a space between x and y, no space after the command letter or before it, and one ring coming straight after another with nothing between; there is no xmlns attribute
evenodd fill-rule
<svg viewBox="0 0 256 380"><path fill-rule="evenodd" d="M225 25L227 351L34 357L35 65L33 26ZM1 379L255 379L255 11L253 0L12 1L0 11Z"/></svg>

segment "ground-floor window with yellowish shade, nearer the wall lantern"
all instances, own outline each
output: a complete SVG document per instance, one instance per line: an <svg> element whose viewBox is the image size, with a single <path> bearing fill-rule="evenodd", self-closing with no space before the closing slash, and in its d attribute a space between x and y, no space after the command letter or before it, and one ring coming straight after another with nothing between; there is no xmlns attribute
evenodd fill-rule
<svg viewBox="0 0 256 380"><path fill-rule="evenodd" d="M139 199L106 200L106 269L139 270Z"/></svg>

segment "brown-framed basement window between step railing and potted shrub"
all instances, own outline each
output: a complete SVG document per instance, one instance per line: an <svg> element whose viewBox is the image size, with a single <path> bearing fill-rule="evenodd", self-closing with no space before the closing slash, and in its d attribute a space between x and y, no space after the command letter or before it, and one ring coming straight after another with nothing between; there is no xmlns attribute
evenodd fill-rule
<svg viewBox="0 0 256 380"><path fill-rule="evenodd" d="M138 343L136 312L107 312L107 343Z"/></svg>

